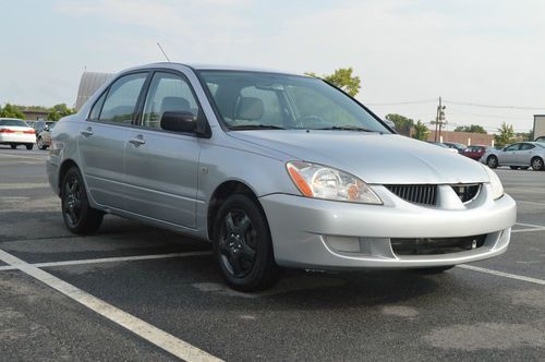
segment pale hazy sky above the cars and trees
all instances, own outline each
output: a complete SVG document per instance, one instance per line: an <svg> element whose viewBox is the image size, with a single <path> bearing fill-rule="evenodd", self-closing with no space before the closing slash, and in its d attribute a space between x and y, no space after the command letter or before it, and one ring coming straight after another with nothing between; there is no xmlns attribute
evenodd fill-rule
<svg viewBox="0 0 545 362"><path fill-rule="evenodd" d="M85 68L162 61L160 41L180 62L352 67L380 117L429 122L439 96L450 129L528 131L545 113L543 1L20 0L2 14L0 104L74 105Z"/></svg>

